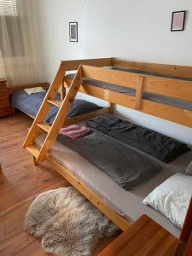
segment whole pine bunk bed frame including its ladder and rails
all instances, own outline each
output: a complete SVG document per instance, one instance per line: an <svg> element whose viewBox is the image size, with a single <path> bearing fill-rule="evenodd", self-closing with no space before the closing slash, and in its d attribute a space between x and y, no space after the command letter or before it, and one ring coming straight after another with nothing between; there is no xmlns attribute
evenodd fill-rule
<svg viewBox="0 0 192 256"><path fill-rule="evenodd" d="M119 104L126 108L136 109L137 111L148 113L162 119L171 120L172 122L192 127L192 111L182 108L175 108L166 104L152 102L143 99L143 91L154 92L162 96L172 96L185 101L192 101L192 82L180 79L165 79L158 76L149 76L138 73L129 73L117 70L106 69L102 67L129 67L138 70L146 70L154 73L163 73L166 75L177 76L181 78L192 78L192 67L161 65L153 63L124 61L117 58L102 58L78 61L61 61L58 72L47 96L44 99L36 119L34 120L30 131L23 145L35 159L36 162L47 160L57 172L61 174L69 183L73 185L79 192L84 195L93 205L101 210L110 218L121 230L126 230L130 226L130 222L114 212L108 204L102 200L99 195L82 183L73 173L68 172L66 168L61 166L50 154L49 149L55 143L55 138L62 125L70 125L78 121L89 119L101 113L112 112L113 104ZM67 71L77 70L73 80L66 79ZM97 79L103 82L117 84L121 86L136 89L136 96L127 96L125 94L106 90L91 84L84 84L82 78ZM55 102L55 94L60 85L67 87L67 94L63 88L63 101ZM109 102L108 108L102 108L96 112L85 113L81 116L67 119L68 110L71 108L73 100L78 92L83 92L90 96L98 97ZM60 107L52 125L44 123L44 117L49 111L51 105ZM42 148L37 148L34 140L39 132L47 133Z"/></svg>

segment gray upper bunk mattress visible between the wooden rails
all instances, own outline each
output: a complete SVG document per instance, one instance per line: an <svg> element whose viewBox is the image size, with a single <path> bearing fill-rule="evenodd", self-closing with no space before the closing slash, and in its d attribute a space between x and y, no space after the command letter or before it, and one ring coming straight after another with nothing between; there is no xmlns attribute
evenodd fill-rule
<svg viewBox="0 0 192 256"><path fill-rule="evenodd" d="M132 69L117 68L117 67L113 67L113 69L120 70L120 71L125 71L125 72L142 73L142 74L157 76L157 74L154 74L154 73L136 71L136 70L132 70ZM67 74L66 78L67 79L73 79L74 75L75 75L75 73ZM172 77L172 76L164 76L162 74L158 74L158 76L163 77L163 78L183 79L183 81L192 81L192 79L184 79L184 78L177 78L177 77ZM95 86L103 88L103 89L114 90L114 91L117 91L119 93L124 93L125 95L136 96L136 90L128 88L128 87L119 86L119 85L116 85L116 84L108 84L108 83L104 83L104 82L94 80L94 79L84 79L83 82L85 84L95 85ZM147 99L147 100L150 100L150 101L153 101L153 102L160 102L162 104L166 104L166 105L169 105L169 106L172 106L172 107L183 108L183 109L187 109L187 110L192 111L192 102L183 101L183 100L180 100L180 99L177 99L177 98L173 98L171 96L160 96L160 95L157 95L157 94L154 94L154 93L144 92L143 93L143 98Z"/></svg>

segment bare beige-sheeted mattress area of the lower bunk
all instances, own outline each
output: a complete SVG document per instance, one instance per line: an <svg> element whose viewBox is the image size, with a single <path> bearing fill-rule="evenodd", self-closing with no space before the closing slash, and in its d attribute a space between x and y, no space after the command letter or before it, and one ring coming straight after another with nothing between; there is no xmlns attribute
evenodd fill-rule
<svg viewBox="0 0 192 256"><path fill-rule="evenodd" d="M36 139L38 146L42 144L44 135ZM160 212L143 204L143 199L157 185L172 176L175 172L184 172L186 166L192 159L192 153L186 153L172 161L172 164L162 164L163 168L160 173L152 177L148 182L137 186L136 189L125 191L119 185L108 177L104 172L93 166L88 160L81 155L67 148L59 142L55 142L54 147L50 150L50 155L67 170L84 182L90 189L100 195L114 211L124 216L128 220L135 221L143 214L147 214L157 223L161 224L166 230L169 230L174 236L179 236L180 231L177 226L164 217ZM160 161L158 161L160 163Z"/></svg>

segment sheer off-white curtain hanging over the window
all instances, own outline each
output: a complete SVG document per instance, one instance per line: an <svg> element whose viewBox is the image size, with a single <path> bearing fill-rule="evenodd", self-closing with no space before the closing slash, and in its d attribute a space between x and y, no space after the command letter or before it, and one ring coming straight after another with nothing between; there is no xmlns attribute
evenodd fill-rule
<svg viewBox="0 0 192 256"><path fill-rule="evenodd" d="M0 77L9 86L38 83L31 0L0 0Z"/></svg>

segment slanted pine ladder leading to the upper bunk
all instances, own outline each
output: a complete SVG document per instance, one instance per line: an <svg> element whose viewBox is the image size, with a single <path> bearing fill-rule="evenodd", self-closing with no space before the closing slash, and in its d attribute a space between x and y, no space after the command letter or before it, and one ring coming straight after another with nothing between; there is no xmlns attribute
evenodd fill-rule
<svg viewBox="0 0 192 256"><path fill-rule="evenodd" d="M41 108L38 111L36 118L32 124L31 129L29 130L26 140L23 143L23 148L26 148L35 158L37 162L43 161L46 159L50 148L55 143L55 139L67 119L67 113L71 108L71 105L74 101L75 96L79 91L80 84L82 82L82 67L79 66L78 72L76 73L72 84L69 87L67 95L62 102L55 101L55 95L57 90L61 86L61 83L65 76L65 70L63 63L55 75L53 83L50 85L47 95L44 98ZM49 112L51 105L59 107L58 113L55 116L55 120L52 125L49 125L44 122L44 119ZM46 132L47 136L44 139L44 143L41 148L38 149L35 147L35 138L38 137L41 131Z"/></svg>

